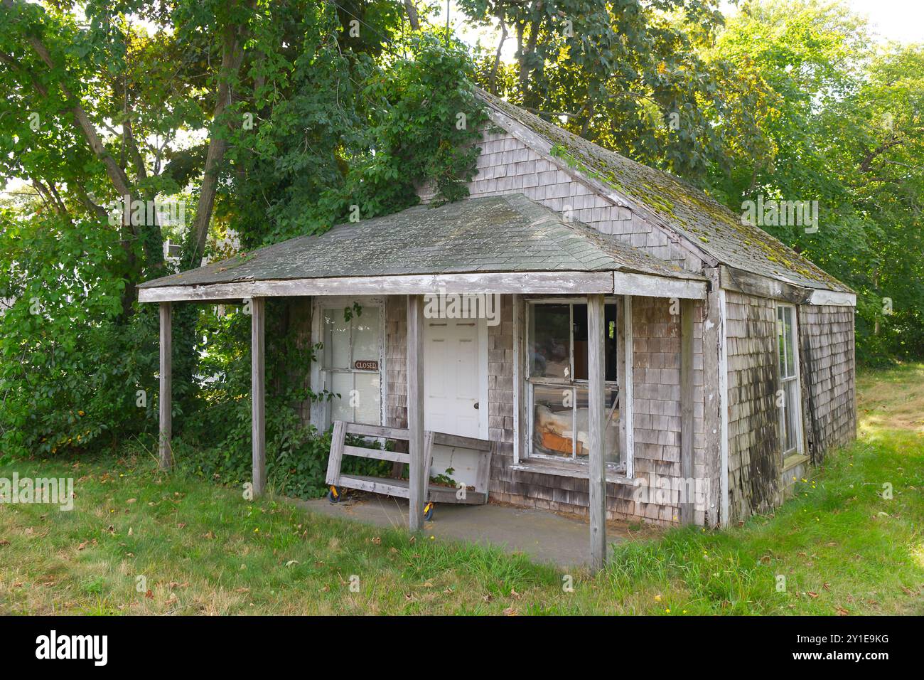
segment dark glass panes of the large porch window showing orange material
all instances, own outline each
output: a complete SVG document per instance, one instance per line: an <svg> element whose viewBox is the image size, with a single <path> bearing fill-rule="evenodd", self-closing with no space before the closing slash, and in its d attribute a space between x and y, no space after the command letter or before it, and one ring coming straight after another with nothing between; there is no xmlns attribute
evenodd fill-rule
<svg viewBox="0 0 924 680"><path fill-rule="evenodd" d="M590 454L587 303L528 306L530 455L587 462ZM616 305L604 307L604 459L619 464Z"/></svg>

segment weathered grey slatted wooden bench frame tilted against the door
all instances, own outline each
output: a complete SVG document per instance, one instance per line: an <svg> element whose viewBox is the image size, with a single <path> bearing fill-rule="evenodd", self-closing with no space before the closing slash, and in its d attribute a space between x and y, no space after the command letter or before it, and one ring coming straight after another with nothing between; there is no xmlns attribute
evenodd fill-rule
<svg viewBox="0 0 924 680"><path fill-rule="evenodd" d="M410 485L400 476L405 464L410 464L410 454L401 451L386 451L363 446L346 444L346 435L356 437L386 439L390 441L407 441L408 431L401 427L381 427L334 421L334 434L331 438L331 454L327 461L327 484L332 489L332 500L338 500L339 489L356 488L385 496L410 498ZM433 447L445 447L452 451L469 451L478 458L477 480L474 488L444 487L430 483L430 468L433 461ZM488 478L491 472L491 442L484 439L459 437L444 432L427 430L423 437L425 469L424 498L429 503L459 503L481 505L488 502ZM377 461L395 463L395 476L375 477L365 475L343 474L344 456L357 456Z"/></svg>

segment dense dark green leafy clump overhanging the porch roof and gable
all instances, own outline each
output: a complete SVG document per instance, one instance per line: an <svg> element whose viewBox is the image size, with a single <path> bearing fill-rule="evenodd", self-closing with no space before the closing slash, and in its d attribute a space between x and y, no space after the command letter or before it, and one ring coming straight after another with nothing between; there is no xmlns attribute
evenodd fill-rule
<svg viewBox="0 0 924 680"><path fill-rule="evenodd" d="M357 210L402 210L427 181L443 201L466 195L485 114L465 51L422 34L385 69L342 50L335 15L301 20L305 52L278 55L261 71L274 89L237 105L261 112L251 130L232 133L229 154L236 171L224 210L245 246L317 233Z"/></svg>

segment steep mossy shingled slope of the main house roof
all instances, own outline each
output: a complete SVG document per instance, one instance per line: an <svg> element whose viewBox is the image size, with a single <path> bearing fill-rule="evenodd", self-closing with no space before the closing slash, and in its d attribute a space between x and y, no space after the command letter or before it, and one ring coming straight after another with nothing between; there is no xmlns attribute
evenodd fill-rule
<svg viewBox="0 0 924 680"><path fill-rule="evenodd" d="M651 221L675 231L717 262L814 289L850 291L763 229L742 224L741 217L682 179L616 154L482 90L495 123L507 117L552 145L552 154L576 171L602 182L630 206L641 206Z"/></svg>

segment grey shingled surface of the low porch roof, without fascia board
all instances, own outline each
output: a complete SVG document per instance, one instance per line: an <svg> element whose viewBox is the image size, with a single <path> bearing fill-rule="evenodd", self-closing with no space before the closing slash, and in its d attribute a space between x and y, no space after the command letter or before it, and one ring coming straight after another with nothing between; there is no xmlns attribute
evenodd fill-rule
<svg viewBox="0 0 924 680"><path fill-rule="evenodd" d="M419 205L341 224L141 288L295 278L487 272L622 271L704 280L587 225L565 222L522 194Z"/></svg>

